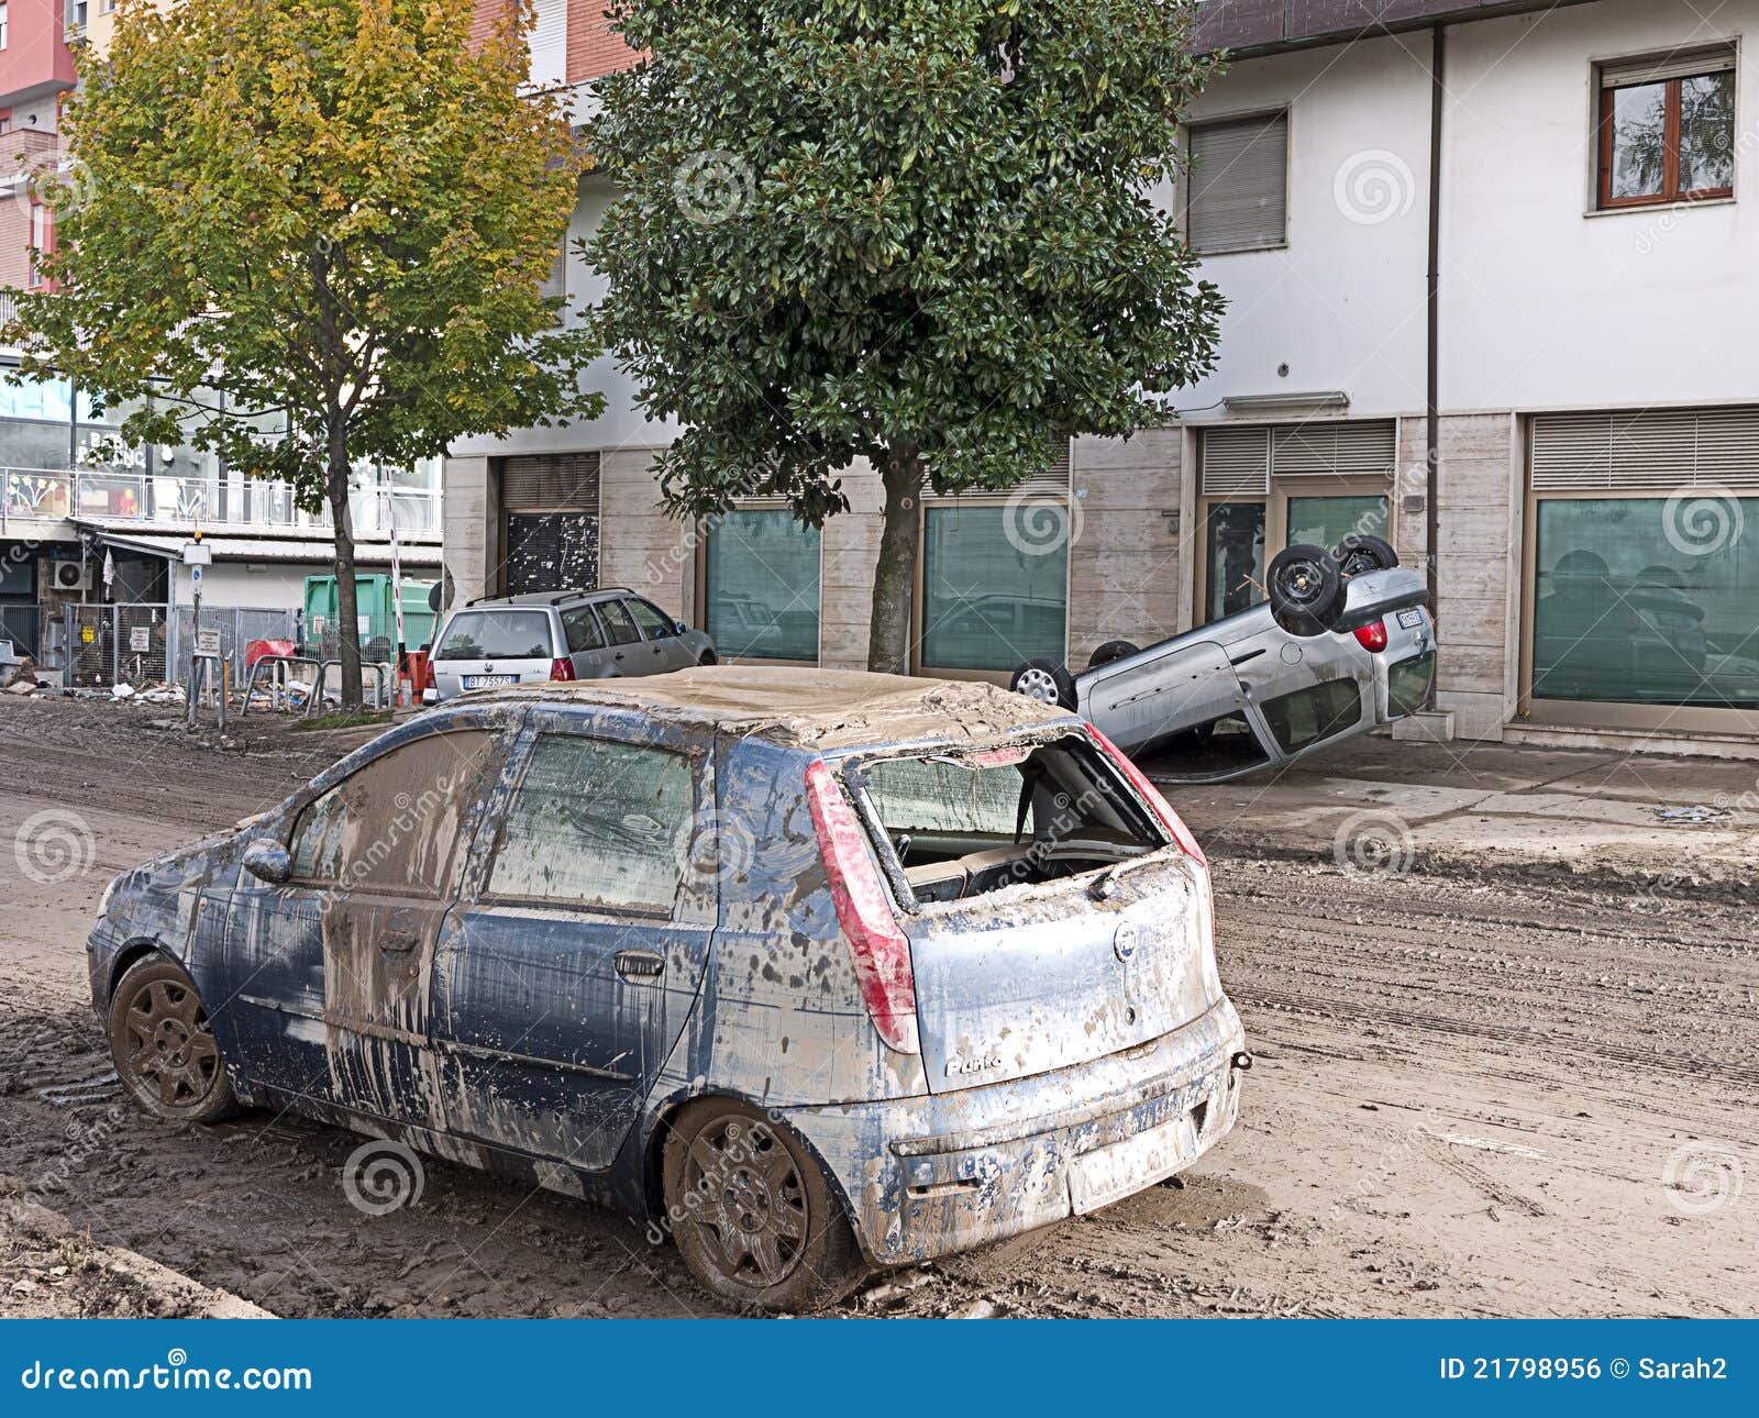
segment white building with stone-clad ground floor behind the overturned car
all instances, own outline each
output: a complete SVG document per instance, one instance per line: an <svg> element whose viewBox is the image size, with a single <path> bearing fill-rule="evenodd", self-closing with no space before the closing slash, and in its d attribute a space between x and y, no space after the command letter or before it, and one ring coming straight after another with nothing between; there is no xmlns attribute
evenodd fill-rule
<svg viewBox="0 0 1759 1418"><path fill-rule="evenodd" d="M916 669L1080 665L1249 603L1282 545L1370 530L1434 572L1435 732L1759 751L1755 23L1759 0L1205 4L1231 65L1164 199L1230 297L1221 364L1179 428L1075 440L1040 487L1052 551L1010 535L1018 500L925 498ZM570 236L612 199L589 178ZM595 289L573 255L565 280ZM593 424L454 449L457 588L533 584L519 549L561 535L568 579L640 586L732 654L864 663L874 479L821 533L762 503L681 526L649 473L674 429L596 380Z"/></svg>

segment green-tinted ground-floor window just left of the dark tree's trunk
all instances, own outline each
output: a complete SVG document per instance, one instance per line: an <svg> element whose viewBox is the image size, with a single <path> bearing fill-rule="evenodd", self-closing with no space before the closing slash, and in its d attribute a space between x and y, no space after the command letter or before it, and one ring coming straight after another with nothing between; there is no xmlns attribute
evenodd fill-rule
<svg viewBox="0 0 1759 1418"><path fill-rule="evenodd" d="M704 628L728 660L818 663L818 528L786 508L741 508L707 523Z"/></svg>

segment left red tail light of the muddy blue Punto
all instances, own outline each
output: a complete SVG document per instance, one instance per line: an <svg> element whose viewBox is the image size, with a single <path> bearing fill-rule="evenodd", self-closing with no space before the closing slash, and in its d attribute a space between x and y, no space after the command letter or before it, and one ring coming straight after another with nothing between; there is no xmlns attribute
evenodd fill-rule
<svg viewBox="0 0 1759 1418"><path fill-rule="evenodd" d="M806 800L813 809L813 830L830 878L837 924L848 936L855 978L860 980L874 1029L899 1054L920 1054L916 973L909 962L909 941L892 915L892 903L887 901L885 883L867 852L867 837L855 820L855 809L823 758L806 765Z"/></svg>

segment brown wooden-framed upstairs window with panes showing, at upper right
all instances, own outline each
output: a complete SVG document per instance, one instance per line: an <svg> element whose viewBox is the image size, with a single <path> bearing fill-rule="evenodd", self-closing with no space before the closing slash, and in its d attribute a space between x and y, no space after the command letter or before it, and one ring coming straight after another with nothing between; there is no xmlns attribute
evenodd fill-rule
<svg viewBox="0 0 1759 1418"><path fill-rule="evenodd" d="M1734 192L1734 51L1601 67L1601 208Z"/></svg>

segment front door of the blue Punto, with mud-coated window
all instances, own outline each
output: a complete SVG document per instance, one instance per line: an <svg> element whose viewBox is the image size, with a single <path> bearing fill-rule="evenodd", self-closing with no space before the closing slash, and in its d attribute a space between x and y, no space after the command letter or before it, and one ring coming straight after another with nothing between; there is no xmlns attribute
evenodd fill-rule
<svg viewBox="0 0 1759 1418"><path fill-rule="evenodd" d="M515 714L408 737L283 815L292 874L241 874L213 1012L252 1077L394 1122L438 1121L434 947Z"/></svg>

